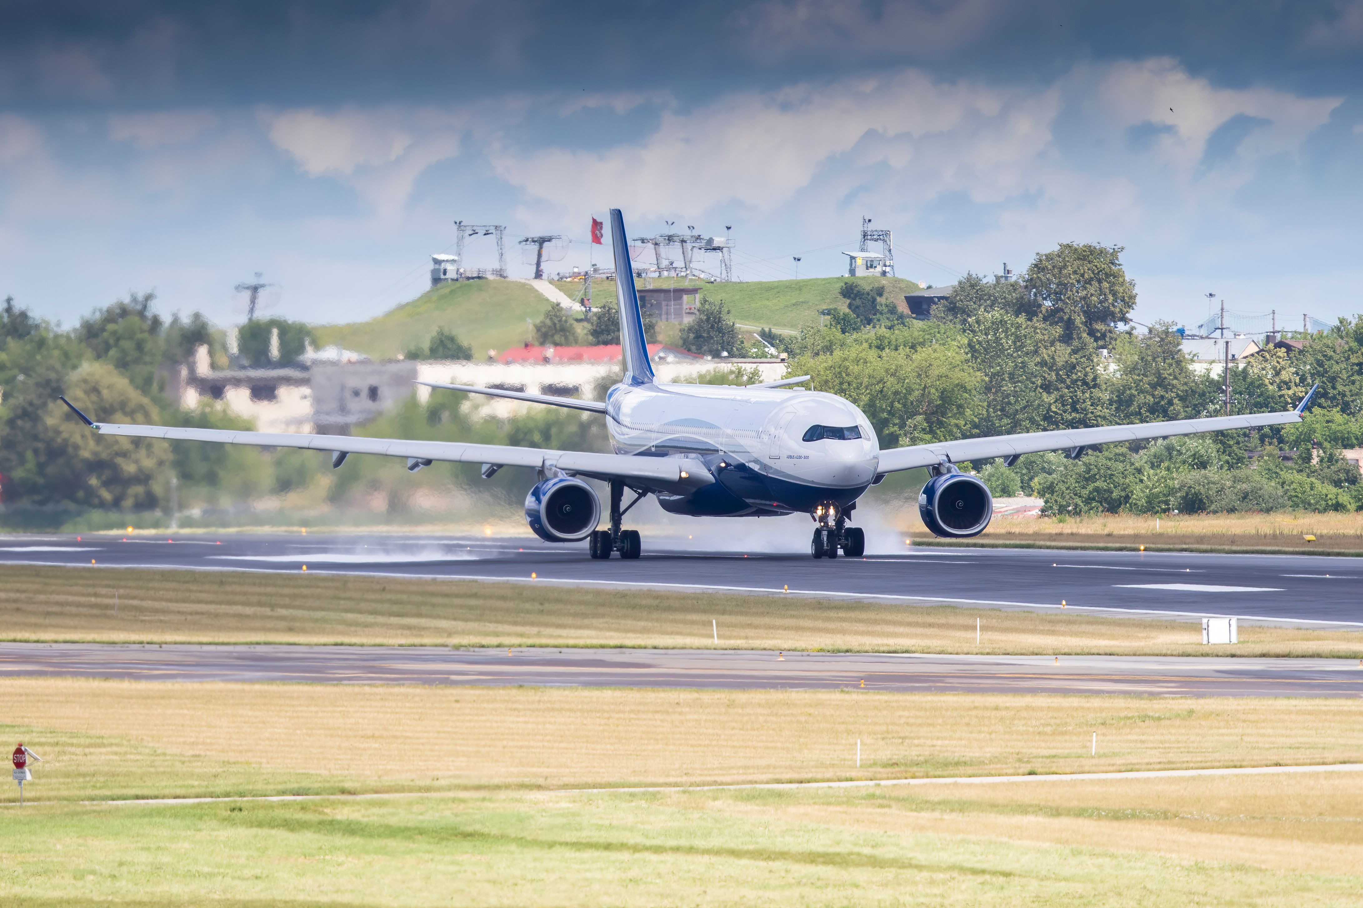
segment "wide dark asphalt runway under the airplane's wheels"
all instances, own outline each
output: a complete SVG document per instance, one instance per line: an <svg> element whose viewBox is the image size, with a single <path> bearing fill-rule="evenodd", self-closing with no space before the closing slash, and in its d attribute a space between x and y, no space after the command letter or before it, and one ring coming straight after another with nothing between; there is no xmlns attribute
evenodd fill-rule
<svg viewBox="0 0 1363 908"><path fill-rule="evenodd" d="M736 527L739 530L739 527ZM807 554L706 551L645 539L638 561L592 561L585 545L523 538L413 535L10 535L0 564L358 573L601 584L669 591L781 594L1067 607L1135 617L1236 615L1303 626L1363 628L1363 560L1318 555L905 549L815 561Z"/></svg>

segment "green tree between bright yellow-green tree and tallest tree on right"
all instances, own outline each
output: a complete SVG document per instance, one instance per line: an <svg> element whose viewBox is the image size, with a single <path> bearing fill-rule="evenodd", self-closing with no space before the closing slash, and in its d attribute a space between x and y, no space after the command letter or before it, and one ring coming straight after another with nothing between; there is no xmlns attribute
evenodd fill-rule
<svg viewBox="0 0 1363 908"><path fill-rule="evenodd" d="M970 363L984 377L979 433L1007 436L1040 429L1045 398L1032 324L1002 309L988 309L966 323L965 336Z"/></svg>

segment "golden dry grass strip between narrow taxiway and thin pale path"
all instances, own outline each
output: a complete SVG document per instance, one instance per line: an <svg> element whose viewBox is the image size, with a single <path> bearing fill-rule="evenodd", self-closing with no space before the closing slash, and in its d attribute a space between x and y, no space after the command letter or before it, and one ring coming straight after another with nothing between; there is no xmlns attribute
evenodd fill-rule
<svg viewBox="0 0 1363 908"><path fill-rule="evenodd" d="M26 678L0 701L46 799L1363 761L1351 700Z"/></svg>

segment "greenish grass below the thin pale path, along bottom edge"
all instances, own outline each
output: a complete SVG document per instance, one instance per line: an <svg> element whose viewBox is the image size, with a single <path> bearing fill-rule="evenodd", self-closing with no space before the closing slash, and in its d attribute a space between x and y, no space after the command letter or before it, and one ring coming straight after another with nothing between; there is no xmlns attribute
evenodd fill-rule
<svg viewBox="0 0 1363 908"><path fill-rule="evenodd" d="M1028 794L1045 794L1037 788ZM29 908L1356 904L1358 845L1321 839L1358 825L1356 798L1347 810L1274 805L1266 818L1276 834L1265 836L1253 822L1259 817L1178 817L1176 796L1152 807L1138 787L1071 788L1073 803L1059 810L954 794L33 806L0 814L0 900ZM1228 806L1266 813L1243 785ZM1293 847L1300 854L1284 866L1281 851Z"/></svg>

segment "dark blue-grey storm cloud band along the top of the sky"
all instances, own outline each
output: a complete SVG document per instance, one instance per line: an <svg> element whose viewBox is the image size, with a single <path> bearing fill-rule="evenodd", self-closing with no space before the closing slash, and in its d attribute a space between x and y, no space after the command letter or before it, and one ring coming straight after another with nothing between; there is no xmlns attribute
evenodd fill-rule
<svg viewBox="0 0 1363 908"><path fill-rule="evenodd" d="M898 65L1045 80L1077 60L1149 56L1223 84L1321 93L1353 88L1363 69L1356 0L8 0L0 11L10 108L446 102L548 86L687 99Z"/></svg>

